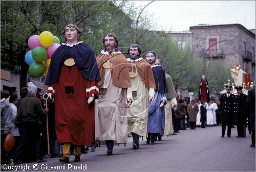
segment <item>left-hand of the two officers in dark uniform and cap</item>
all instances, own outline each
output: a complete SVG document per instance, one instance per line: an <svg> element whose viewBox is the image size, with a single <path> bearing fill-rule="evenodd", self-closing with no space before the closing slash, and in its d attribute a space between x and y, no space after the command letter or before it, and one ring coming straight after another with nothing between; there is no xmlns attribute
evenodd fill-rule
<svg viewBox="0 0 256 172"><path fill-rule="evenodd" d="M220 114L221 114L221 137L225 136L226 126L227 126L227 137L231 135L231 127L233 124L232 109L234 95L231 94L231 85L226 85L226 93L221 95L220 98Z"/></svg>

